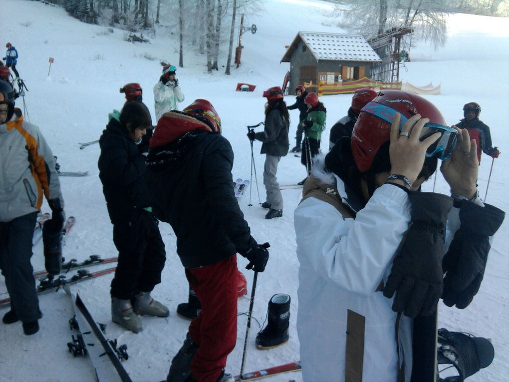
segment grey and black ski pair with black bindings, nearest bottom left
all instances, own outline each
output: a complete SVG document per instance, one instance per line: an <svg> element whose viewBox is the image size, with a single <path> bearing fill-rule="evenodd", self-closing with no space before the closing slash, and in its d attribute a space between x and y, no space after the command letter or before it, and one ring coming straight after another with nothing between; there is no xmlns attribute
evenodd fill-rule
<svg viewBox="0 0 509 382"><path fill-rule="evenodd" d="M117 365L115 365L115 361L110 360L108 357L103 357L105 354L109 354L108 351L112 350L117 354L117 362L119 359L127 360L129 358L127 354L127 345L121 345L117 348L117 340L110 341L106 339L104 337L106 325L98 324L94 321L81 298L71 292L69 285L65 285L64 290L71 298L72 308L74 311L74 316L69 320L70 328L71 330L79 331L78 335L72 335L72 342L67 344L69 351L74 355L74 357L87 356L88 354L88 358L94 368L95 377L98 382L130 381L131 379L125 379L123 377L125 376L124 374L127 375L127 373L122 365L119 365L121 370L119 372ZM81 303L77 302L78 298ZM82 309L79 304L82 304ZM89 318L91 321L89 321ZM100 335L96 333L96 330L98 330ZM103 341L106 342L107 348L103 345ZM106 352L104 352L104 350Z"/></svg>

